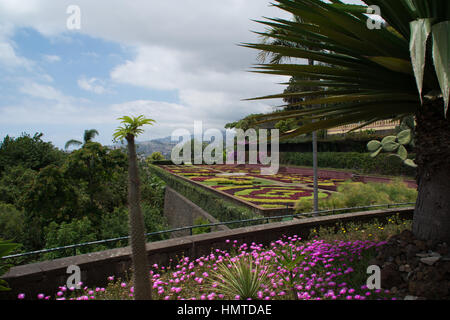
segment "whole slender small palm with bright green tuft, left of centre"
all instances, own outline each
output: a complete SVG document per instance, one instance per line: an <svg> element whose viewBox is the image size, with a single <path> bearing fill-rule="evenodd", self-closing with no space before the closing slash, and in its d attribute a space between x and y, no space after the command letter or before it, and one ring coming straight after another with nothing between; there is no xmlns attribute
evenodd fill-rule
<svg viewBox="0 0 450 320"><path fill-rule="evenodd" d="M131 256L133 262L134 297L136 300L150 300L152 298L150 276L148 268L144 218L141 209L140 179L136 155L135 137L143 133L142 126L151 125L152 119L139 117L122 117L122 127L114 133L114 140L128 142L128 205L129 227L131 238Z"/></svg>

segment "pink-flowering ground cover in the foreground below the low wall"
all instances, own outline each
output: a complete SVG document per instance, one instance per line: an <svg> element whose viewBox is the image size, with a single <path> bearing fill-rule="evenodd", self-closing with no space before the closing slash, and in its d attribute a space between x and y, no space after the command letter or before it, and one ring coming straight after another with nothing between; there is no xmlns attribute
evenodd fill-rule
<svg viewBox="0 0 450 320"><path fill-rule="evenodd" d="M284 237L269 246L226 241L230 250L213 250L198 259L181 257L172 266L150 270L157 300L386 300L388 290L366 286L368 259L385 242L370 240L301 241ZM228 271L225 271L228 270ZM234 272L239 271L239 272ZM248 276L243 274L248 273ZM248 279L251 279L249 281ZM133 284L108 278L106 287L60 287L43 300L130 300ZM232 285L234 283L234 285ZM19 299L27 298L19 295ZM30 297L34 298L34 297Z"/></svg>

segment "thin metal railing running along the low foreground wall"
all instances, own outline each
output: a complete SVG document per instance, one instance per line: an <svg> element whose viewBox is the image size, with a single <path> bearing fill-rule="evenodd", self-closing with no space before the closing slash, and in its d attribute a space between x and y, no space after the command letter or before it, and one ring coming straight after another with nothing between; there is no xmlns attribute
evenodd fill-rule
<svg viewBox="0 0 450 320"><path fill-rule="evenodd" d="M194 229L198 229L198 228L212 228L212 227L218 227L218 226L227 226L227 225L233 225L233 224L256 223L256 222L269 223L271 220L287 220L287 219L291 220L291 219L300 218L300 217L311 217L311 216L317 217L317 216L323 216L323 215L329 215L329 214L342 213L342 212L345 212L345 211L367 210L367 209L384 208L384 207L390 209L390 208L397 208L397 207L410 206L410 205L415 205L415 203L414 202L408 202L408 203L396 203L396 204L371 205L371 206L363 206L363 207L352 207L352 208L322 210L322 211L308 212L308 213L297 213L297 214L292 214L292 215L262 217L262 218L256 218L256 219L245 219L245 220L235 220L235 221L227 221L227 222L217 222L217 223L202 224L202 225L196 225L196 226L186 226L186 227L175 228L175 229L170 229L170 230L151 232L151 233L146 233L145 236L148 238L148 237L151 237L151 236L167 234L167 233L170 234L170 233L186 231L186 230L189 230L189 234L192 235L193 234L193 230ZM68 249L76 250L77 248L82 248L82 247L86 247L86 246L108 244L108 243L113 243L113 242L119 242L119 241L122 241L122 240L129 240L129 239L130 239L130 236L125 236L125 237L119 237L119 238L113 238L113 239L107 239L107 240L98 240L98 241L91 241L91 242L73 244L73 245L57 247L57 248L51 248L51 249L43 249L43 250L37 250L37 251L31 251L31 252L25 252L25 253L18 253L18 254L13 254L13 255L9 255L9 256L4 256L4 257L2 257L0 259L0 261L1 260L6 260L6 259L29 257L29 256L45 254L45 253L50 253L50 252L56 252L56 251L62 251L62 250L68 250ZM76 255L76 251L75 251L75 255Z"/></svg>

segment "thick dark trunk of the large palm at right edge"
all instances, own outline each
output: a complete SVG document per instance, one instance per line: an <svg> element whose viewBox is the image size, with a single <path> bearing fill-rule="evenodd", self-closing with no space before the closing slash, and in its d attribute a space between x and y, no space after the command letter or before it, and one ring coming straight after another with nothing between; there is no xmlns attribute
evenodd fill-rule
<svg viewBox="0 0 450 320"><path fill-rule="evenodd" d="M450 243L450 120L443 101L416 114L416 163L419 197L413 232L423 240Z"/></svg>

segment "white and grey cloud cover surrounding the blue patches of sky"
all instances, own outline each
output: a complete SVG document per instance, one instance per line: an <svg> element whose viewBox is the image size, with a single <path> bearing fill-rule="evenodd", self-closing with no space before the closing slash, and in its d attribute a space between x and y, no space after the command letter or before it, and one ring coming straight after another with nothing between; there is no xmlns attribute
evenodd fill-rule
<svg viewBox="0 0 450 320"><path fill-rule="evenodd" d="M8 21L15 28L34 28L55 41L71 39L72 33L66 29L66 8L73 1L30 1L29 4L0 0L0 21ZM167 136L172 128L192 125L194 120L203 120L211 128L223 128L225 123L247 114L266 112L272 104L279 103L242 99L278 93L283 87L275 83L286 79L246 72L256 63L257 52L237 44L258 40L250 29L264 30L250 19L286 16L269 4L270 0L78 0L82 13L79 32L119 43L136 53L129 61L113 68L110 79L102 81L99 78L104 76L95 74L90 76L96 77L75 75L78 86L102 94L108 91L105 82L109 84L112 80L116 85L128 84L152 91L173 90L178 93L178 103L136 97L135 101L127 99L108 106L88 107L88 103L67 97L52 86L30 82L21 88L21 93L54 103L25 101L22 105L1 107L0 118L8 119L3 117L11 118L15 114L15 119L22 117L22 123L87 122L100 126L117 124L117 117L135 112L157 120L149 132ZM85 56L92 54L101 63L98 57L103 53L91 50L95 49L86 48Z"/></svg>

